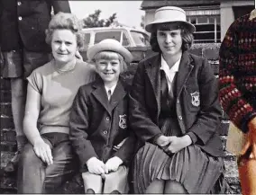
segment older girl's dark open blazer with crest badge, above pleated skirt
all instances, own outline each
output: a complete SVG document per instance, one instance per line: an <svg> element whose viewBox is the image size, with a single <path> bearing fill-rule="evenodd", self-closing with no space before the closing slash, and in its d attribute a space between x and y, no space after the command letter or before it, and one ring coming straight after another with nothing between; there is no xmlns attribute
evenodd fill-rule
<svg viewBox="0 0 256 195"><path fill-rule="evenodd" d="M142 60L133 78L130 94L129 121L142 141L161 134L160 116L160 54ZM223 146L217 129L222 111L218 102L218 85L206 59L182 54L176 86L176 114L183 135L206 153L223 156ZM199 105L198 99L199 98Z"/></svg>

